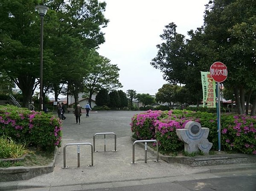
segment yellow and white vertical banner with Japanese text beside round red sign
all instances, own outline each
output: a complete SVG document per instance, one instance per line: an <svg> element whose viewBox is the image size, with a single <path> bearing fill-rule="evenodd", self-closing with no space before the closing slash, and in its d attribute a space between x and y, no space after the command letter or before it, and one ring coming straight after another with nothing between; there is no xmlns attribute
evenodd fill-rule
<svg viewBox="0 0 256 191"><path fill-rule="evenodd" d="M208 108L215 108L215 81L212 79L210 72L208 71L201 71L201 80L203 88L203 107L207 104Z"/></svg>

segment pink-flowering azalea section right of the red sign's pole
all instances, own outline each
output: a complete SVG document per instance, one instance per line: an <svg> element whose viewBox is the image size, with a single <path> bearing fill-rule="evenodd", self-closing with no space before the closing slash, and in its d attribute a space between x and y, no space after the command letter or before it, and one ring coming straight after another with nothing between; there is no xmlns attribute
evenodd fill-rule
<svg viewBox="0 0 256 191"><path fill-rule="evenodd" d="M233 116L232 123L222 125L221 129L221 145L225 150L256 154L256 116Z"/></svg>

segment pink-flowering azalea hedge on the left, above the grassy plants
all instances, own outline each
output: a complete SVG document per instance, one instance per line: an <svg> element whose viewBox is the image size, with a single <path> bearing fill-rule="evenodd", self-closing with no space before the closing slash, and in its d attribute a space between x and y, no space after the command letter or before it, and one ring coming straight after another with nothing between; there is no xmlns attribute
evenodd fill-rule
<svg viewBox="0 0 256 191"><path fill-rule="evenodd" d="M0 105L0 136L44 150L61 146L61 121L51 114Z"/></svg>

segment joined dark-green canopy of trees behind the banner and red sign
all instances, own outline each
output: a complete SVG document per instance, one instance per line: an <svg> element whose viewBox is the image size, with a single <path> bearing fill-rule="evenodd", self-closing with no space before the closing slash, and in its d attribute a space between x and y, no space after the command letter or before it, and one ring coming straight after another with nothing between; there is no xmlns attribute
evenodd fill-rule
<svg viewBox="0 0 256 191"><path fill-rule="evenodd" d="M256 110L256 3L251 0L212 0L206 5L204 25L189 31L189 39L177 34L170 23L160 37L163 43L151 65L160 69L170 83L185 84L201 101L200 71L209 71L212 63L223 62L228 68L225 88L236 97L239 114L244 100ZM245 96L246 95L246 96Z"/></svg>

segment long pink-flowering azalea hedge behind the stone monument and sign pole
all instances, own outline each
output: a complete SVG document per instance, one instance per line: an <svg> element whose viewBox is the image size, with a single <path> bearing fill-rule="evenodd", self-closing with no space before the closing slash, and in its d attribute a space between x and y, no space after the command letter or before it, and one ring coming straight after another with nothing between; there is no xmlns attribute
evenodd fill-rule
<svg viewBox="0 0 256 191"><path fill-rule="evenodd" d="M208 140L212 149L218 150L217 114L202 111L145 111L134 115L131 131L139 140L156 139L162 153L178 152L184 148L176 134L177 128L185 128L189 121L209 128ZM256 154L256 117L221 115L221 149Z"/></svg>

